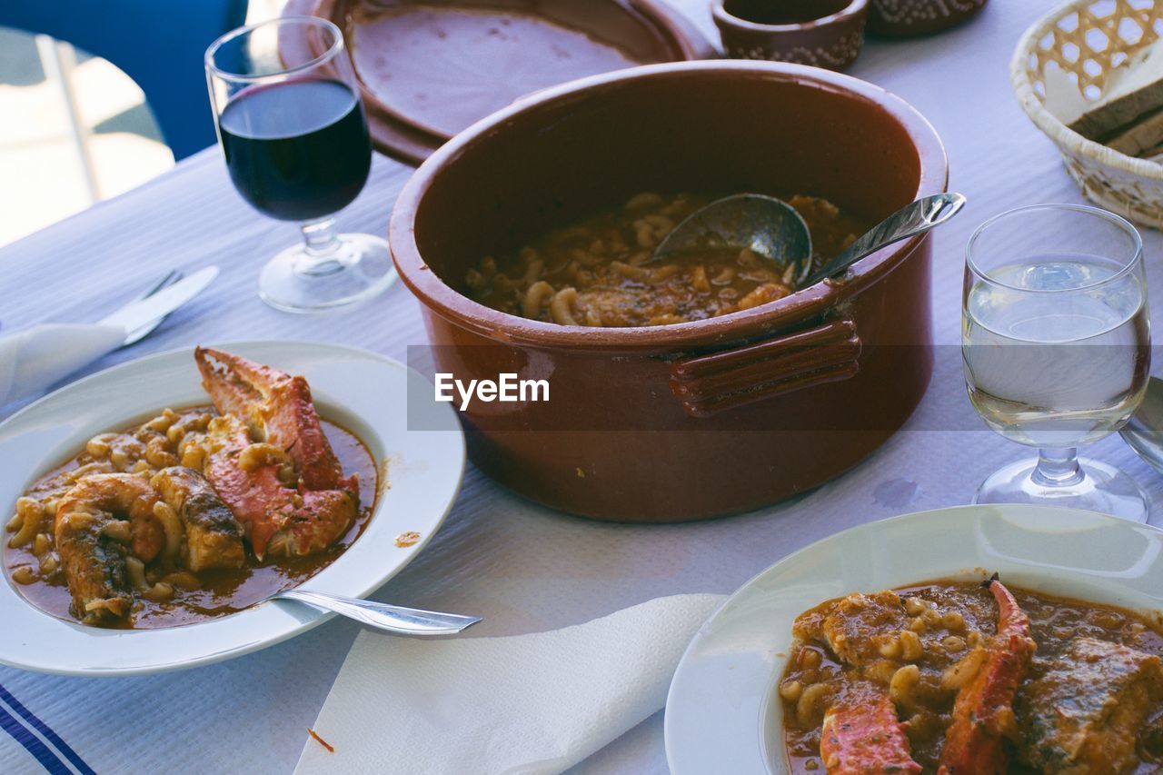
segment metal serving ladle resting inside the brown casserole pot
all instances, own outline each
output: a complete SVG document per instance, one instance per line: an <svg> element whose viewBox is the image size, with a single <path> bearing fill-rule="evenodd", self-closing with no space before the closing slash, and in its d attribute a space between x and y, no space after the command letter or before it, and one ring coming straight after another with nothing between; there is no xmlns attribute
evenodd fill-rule
<svg viewBox="0 0 1163 775"><path fill-rule="evenodd" d="M812 237L799 213L775 197L736 194L715 200L684 219L655 249L654 259L708 244L750 248L785 268L793 264L795 286L808 287L826 277L835 277L885 246L944 223L964 206L965 198L959 193L918 199L811 272Z"/></svg>

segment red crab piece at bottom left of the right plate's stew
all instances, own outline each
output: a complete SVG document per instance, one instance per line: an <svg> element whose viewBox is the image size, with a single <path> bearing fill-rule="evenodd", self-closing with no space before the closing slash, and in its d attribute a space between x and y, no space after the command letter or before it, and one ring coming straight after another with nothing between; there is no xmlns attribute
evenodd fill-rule
<svg viewBox="0 0 1163 775"><path fill-rule="evenodd" d="M868 684L869 692L828 709L820 735L820 759L828 775L920 773L897 720L889 692Z"/></svg>

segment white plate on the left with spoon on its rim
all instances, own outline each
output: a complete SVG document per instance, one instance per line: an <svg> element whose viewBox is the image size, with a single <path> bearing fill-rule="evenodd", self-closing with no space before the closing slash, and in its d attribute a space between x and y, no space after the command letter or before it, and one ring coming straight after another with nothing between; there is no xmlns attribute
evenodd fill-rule
<svg viewBox="0 0 1163 775"><path fill-rule="evenodd" d="M420 394L431 386L405 365L365 350L288 341L222 347L305 376L320 414L359 436L377 464L387 460L391 486L381 489L363 534L304 583L351 597L373 591L423 549L452 507L464 472L464 435L454 411L441 405L426 413L423 427L438 429L409 429L409 384ZM186 348L107 369L27 406L0 424L0 512L8 513L29 484L94 434L166 406L200 403L208 397L193 349ZM397 547L405 531L420 533L420 541ZM42 612L20 596L7 573L0 575L0 663L44 673L130 675L207 664L271 646L330 616L294 603L262 603L166 630L102 630Z"/></svg>

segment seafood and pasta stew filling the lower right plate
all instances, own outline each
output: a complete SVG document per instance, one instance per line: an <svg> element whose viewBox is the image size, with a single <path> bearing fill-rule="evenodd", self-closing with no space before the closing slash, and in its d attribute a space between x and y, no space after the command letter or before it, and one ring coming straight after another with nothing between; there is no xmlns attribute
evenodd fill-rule
<svg viewBox="0 0 1163 775"><path fill-rule="evenodd" d="M1136 773L1163 765L1157 616L937 581L797 617L793 773Z"/></svg>

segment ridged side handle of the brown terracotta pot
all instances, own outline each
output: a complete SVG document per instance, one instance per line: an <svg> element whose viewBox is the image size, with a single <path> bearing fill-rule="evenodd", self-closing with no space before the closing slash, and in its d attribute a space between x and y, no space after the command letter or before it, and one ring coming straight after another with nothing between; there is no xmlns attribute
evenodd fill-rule
<svg viewBox="0 0 1163 775"><path fill-rule="evenodd" d="M670 390L691 417L840 382L859 371L862 343L850 318L756 344L672 361Z"/></svg>

